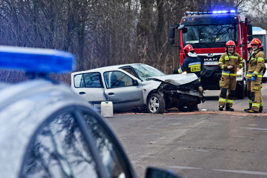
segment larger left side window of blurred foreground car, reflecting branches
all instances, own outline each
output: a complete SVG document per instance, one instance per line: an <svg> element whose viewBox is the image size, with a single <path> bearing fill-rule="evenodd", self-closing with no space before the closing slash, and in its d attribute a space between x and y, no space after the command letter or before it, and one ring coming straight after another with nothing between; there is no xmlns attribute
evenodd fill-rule
<svg viewBox="0 0 267 178"><path fill-rule="evenodd" d="M43 124L25 155L21 177L99 177L72 113Z"/></svg>

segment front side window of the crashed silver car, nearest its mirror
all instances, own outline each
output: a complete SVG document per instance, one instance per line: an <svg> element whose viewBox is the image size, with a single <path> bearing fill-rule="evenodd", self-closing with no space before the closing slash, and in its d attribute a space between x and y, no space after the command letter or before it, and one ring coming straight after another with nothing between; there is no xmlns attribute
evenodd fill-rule
<svg viewBox="0 0 267 178"><path fill-rule="evenodd" d="M133 86L133 79L121 71L109 71L104 73L107 88Z"/></svg>

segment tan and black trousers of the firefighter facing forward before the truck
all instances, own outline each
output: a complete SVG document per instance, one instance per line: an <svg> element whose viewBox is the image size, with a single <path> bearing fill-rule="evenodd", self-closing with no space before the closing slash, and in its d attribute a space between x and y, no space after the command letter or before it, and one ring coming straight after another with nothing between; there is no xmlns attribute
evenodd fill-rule
<svg viewBox="0 0 267 178"><path fill-rule="evenodd" d="M233 99L235 96L236 78L221 78L220 79L220 95L219 95L219 107L232 107Z"/></svg>

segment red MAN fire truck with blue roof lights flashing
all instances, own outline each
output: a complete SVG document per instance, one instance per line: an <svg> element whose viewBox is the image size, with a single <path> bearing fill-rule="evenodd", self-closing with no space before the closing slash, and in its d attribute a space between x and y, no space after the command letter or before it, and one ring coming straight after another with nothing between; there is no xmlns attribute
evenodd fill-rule
<svg viewBox="0 0 267 178"><path fill-rule="evenodd" d="M175 29L180 30L180 46L175 44ZM245 15L235 11L185 12L180 24L173 24L170 30L170 44L180 49L180 65L185 59L183 47L193 46L202 60L201 84L205 90L220 90L219 80L222 70L218 67L220 56L225 53L225 44L235 42L235 52L241 55L245 64L248 59L248 41L253 39L252 25ZM236 97L246 95L246 66L237 74Z"/></svg>

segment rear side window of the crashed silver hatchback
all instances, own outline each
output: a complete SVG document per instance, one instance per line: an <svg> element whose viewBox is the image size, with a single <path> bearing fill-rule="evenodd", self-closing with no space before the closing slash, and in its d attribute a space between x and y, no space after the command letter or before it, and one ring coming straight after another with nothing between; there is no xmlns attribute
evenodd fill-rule
<svg viewBox="0 0 267 178"><path fill-rule="evenodd" d="M101 74L98 72L74 75L76 88L103 88Z"/></svg>

